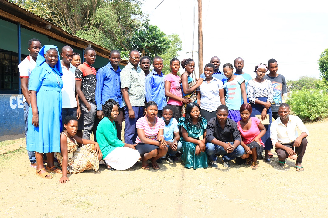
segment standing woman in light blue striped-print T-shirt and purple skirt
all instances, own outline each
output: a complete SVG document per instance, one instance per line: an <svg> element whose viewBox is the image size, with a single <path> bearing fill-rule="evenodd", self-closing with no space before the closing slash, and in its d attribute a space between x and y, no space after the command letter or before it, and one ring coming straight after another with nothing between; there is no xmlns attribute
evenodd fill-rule
<svg viewBox="0 0 328 218"><path fill-rule="evenodd" d="M229 108L228 118L237 123L240 120L241 99L247 102L247 95L244 77L235 75L233 71L231 63L223 65L223 74L228 78L223 85L226 92L225 103Z"/></svg>

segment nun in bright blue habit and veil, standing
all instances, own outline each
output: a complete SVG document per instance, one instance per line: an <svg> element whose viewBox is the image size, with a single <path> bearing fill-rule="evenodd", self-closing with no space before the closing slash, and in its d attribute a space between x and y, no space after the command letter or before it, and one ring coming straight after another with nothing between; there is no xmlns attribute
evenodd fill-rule
<svg viewBox="0 0 328 218"><path fill-rule="evenodd" d="M63 81L57 46L45 45L39 51L36 67L31 72L29 90L31 109L28 116L27 150L35 151L36 175L45 179L47 173L62 173L53 163L54 152L60 152ZM43 167L47 153L47 167Z"/></svg>

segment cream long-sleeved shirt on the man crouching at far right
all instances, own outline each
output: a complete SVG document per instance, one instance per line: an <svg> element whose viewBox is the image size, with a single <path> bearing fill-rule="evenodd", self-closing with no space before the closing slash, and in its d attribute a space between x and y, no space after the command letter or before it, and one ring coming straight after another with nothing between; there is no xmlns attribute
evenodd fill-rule
<svg viewBox="0 0 328 218"><path fill-rule="evenodd" d="M298 116L289 115L287 126L281 123L280 117L273 121L270 129L272 145L275 146L277 142L294 142L298 137L297 128L309 135L309 131Z"/></svg>

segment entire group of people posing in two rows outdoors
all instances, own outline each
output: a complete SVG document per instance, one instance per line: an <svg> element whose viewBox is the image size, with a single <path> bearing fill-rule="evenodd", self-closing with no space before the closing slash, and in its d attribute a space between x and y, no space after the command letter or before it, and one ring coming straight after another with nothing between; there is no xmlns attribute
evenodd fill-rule
<svg viewBox="0 0 328 218"><path fill-rule="evenodd" d="M162 159L173 163L178 156L186 168L217 167L222 155L223 167L235 159L257 169L263 150L264 160L271 161L273 146L279 165L297 154L296 169L304 170L309 133L282 103L286 81L277 74L275 59L258 64L253 79L243 72L242 58L224 64L222 73L215 56L194 80L193 59L172 59L171 73L164 75L159 56L150 71L151 59L132 50L121 70L120 53L113 50L109 63L96 72L91 47L84 50L83 63L70 46L59 53L56 46L42 47L31 39L28 50L18 66L26 99L25 136L31 166L42 178L58 173L65 183L67 174L97 171L99 163L124 170L138 159L142 169L159 169ZM185 70L181 76L180 66ZM54 165L55 153L62 170Z"/></svg>

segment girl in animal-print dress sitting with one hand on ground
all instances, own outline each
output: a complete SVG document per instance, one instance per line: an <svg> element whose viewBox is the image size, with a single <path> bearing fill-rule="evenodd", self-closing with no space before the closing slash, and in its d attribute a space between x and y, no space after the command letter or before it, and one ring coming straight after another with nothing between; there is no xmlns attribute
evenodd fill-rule
<svg viewBox="0 0 328 218"><path fill-rule="evenodd" d="M99 160L102 159L98 143L76 136L77 127L75 116L65 117L65 130L60 133L61 152L56 152L58 163L63 171L63 176L59 179L60 183L70 180L67 174L82 173L91 169L97 172ZM84 145L79 147L77 143Z"/></svg>

